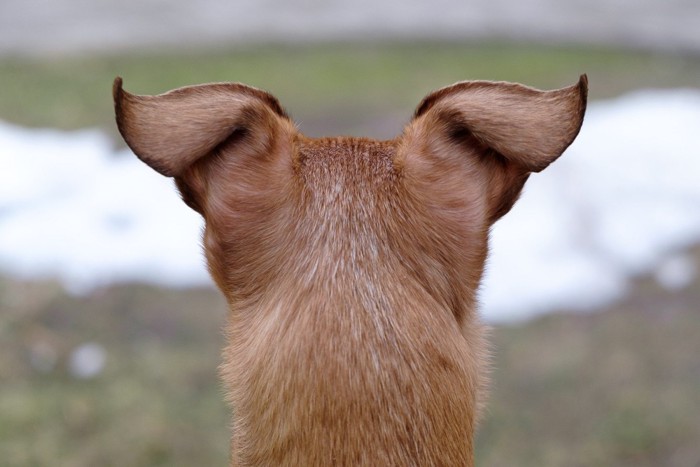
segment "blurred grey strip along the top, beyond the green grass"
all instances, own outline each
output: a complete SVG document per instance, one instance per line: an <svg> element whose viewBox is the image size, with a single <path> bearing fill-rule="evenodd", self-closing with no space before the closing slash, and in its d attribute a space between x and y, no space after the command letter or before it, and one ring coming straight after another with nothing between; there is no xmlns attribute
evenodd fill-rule
<svg viewBox="0 0 700 467"><path fill-rule="evenodd" d="M2 0L0 55L354 38L508 38L700 53L698 0Z"/></svg>

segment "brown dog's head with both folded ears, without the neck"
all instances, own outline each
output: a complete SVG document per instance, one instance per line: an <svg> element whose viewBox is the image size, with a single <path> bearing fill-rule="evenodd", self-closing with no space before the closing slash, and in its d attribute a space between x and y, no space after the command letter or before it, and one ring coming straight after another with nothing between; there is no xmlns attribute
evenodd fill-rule
<svg viewBox="0 0 700 467"><path fill-rule="evenodd" d="M242 84L137 96L114 83L121 134L204 217L229 299L394 281L455 313L481 277L489 227L574 140L586 95L585 75L554 91L462 82L423 99L401 136L373 141L306 138L276 98Z"/></svg>

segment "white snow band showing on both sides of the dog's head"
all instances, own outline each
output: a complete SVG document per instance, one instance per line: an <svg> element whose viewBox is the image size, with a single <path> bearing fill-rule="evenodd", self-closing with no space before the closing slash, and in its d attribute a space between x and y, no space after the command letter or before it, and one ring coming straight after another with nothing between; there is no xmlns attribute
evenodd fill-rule
<svg viewBox="0 0 700 467"><path fill-rule="evenodd" d="M490 321L624 294L655 274L683 287L700 241L700 91L640 91L589 106L566 154L531 177L492 234ZM0 272L75 292L119 281L210 284L201 221L170 180L95 131L0 124Z"/></svg>

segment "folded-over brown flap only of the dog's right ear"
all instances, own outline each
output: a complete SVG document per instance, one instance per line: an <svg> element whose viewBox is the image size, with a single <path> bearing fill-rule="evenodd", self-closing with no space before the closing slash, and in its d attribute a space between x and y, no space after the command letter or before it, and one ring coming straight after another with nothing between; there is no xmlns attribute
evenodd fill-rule
<svg viewBox="0 0 700 467"><path fill-rule="evenodd" d="M539 172L576 138L587 94L586 75L577 84L554 91L514 83L465 81L423 99L414 124L423 120L427 134L446 130L452 139L474 137L509 162L528 172Z"/></svg>

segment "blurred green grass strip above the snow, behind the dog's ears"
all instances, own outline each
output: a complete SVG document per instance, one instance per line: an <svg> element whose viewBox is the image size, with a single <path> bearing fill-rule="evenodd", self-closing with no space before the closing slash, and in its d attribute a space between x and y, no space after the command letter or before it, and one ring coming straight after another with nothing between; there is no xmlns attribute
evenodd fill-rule
<svg viewBox="0 0 700 467"><path fill-rule="evenodd" d="M303 130L391 136L429 91L465 79L541 88L588 73L591 98L639 87L697 86L700 60L529 44L331 44L0 60L0 118L30 126L113 131L111 84L152 94L210 81L273 92ZM382 122L391 123L382 126ZM379 127L379 128L377 128Z"/></svg>

